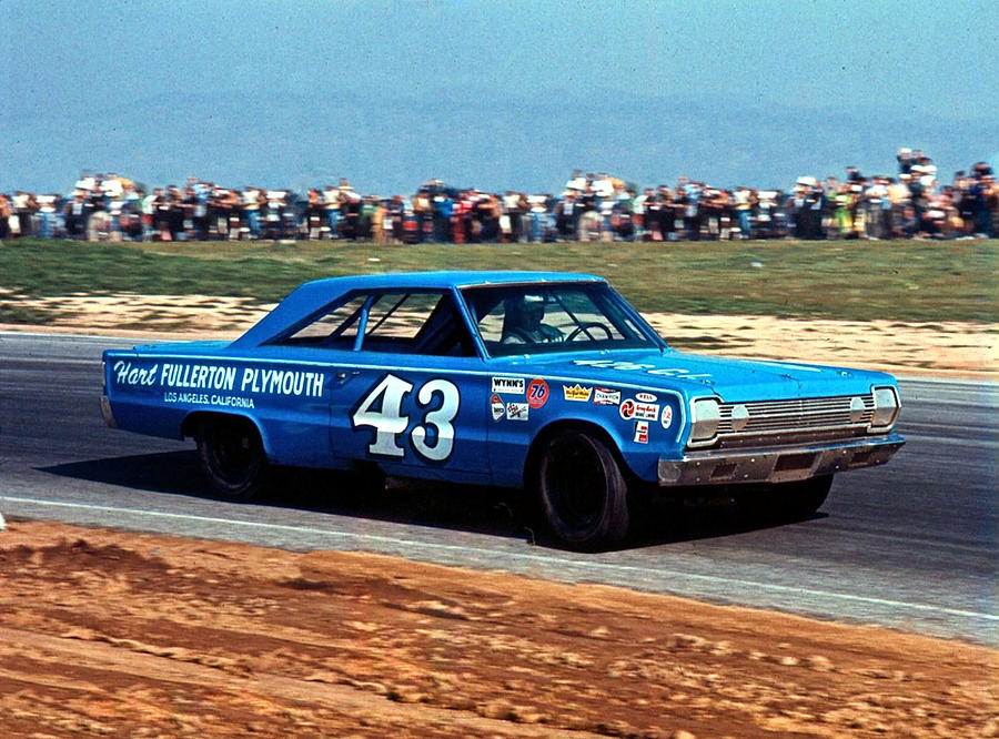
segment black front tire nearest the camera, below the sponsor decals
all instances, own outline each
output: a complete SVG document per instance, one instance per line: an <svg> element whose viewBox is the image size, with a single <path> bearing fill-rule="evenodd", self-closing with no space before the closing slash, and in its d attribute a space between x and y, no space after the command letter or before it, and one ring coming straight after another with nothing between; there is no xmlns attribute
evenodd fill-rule
<svg viewBox="0 0 999 739"><path fill-rule="evenodd" d="M548 527L567 546L593 550L628 533L628 486L598 438L567 429L547 439L537 464L537 494Z"/></svg>

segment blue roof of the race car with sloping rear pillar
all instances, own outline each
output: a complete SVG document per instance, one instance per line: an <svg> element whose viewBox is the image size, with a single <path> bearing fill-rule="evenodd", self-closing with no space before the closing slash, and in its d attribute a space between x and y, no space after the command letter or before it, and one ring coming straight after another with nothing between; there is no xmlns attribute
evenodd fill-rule
<svg viewBox="0 0 999 739"><path fill-rule="evenodd" d="M451 290L485 285L525 283L592 282L606 280L575 272L514 272L504 270L397 272L386 274L324 277L306 282L285 297L271 313L250 328L233 346L258 346L287 326L327 305L336 297L353 291L370 290Z"/></svg>

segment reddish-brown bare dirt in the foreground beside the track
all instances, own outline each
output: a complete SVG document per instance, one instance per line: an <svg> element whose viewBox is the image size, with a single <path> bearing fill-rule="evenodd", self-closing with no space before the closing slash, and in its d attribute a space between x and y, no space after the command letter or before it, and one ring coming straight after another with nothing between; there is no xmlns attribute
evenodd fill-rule
<svg viewBox="0 0 999 739"><path fill-rule="evenodd" d="M999 652L384 556L9 522L6 737L992 737Z"/></svg>

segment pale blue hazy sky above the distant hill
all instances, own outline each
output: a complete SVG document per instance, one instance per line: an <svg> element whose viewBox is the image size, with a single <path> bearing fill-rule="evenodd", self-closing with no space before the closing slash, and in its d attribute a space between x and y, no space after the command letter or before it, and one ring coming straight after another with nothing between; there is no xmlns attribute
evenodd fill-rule
<svg viewBox="0 0 999 739"><path fill-rule="evenodd" d="M169 142L185 111L157 101L193 91L243 94L248 115L284 93L502 98L529 115L532 101L589 90L846 111L892 152L897 119L996 131L999 1L0 0L0 190L65 190L80 169L104 166L87 150L59 162L37 153L69 146L78 126L113 130L120 110L148 110L140 139ZM38 120L64 125L36 139L24 123ZM289 111L302 135L321 123ZM969 142L956 164L997 152L999 141ZM131 172L132 153L118 171ZM11 181L32 161L30 182Z"/></svg>

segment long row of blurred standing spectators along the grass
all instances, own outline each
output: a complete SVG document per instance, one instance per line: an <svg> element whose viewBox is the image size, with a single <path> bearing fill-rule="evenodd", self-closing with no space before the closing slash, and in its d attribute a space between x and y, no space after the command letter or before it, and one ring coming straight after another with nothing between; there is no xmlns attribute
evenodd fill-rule
<svg viewBox="0 0 999 739"><path fill-rule="evenodd" d="M921 151L891 174L846 168L789 191L723 189L686 176L638 189L574 172L557 194L490 193L433 180L413 195L362 195L346 179L295 193L189 178L151 191L114 173L84 174L68 195L0 194L0 239L89 241L370 240L375 243L956 239L999 236L999 185L985 162L940 184Z"/></svg>

